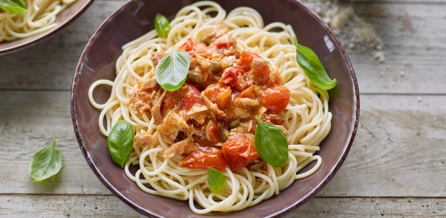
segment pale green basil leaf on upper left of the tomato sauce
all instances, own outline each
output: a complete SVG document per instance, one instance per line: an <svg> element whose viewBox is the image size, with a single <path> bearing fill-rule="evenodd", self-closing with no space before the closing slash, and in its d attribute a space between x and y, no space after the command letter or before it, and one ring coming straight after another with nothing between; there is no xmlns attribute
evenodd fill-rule
<svg viewBox="0 0 446 218"><path fill-rule="evenodd" d="M189 58L188 52L176 51L174 46L172 53L158 62L155 78L161 88L173 92L183 86L189 72Z"/></svg>

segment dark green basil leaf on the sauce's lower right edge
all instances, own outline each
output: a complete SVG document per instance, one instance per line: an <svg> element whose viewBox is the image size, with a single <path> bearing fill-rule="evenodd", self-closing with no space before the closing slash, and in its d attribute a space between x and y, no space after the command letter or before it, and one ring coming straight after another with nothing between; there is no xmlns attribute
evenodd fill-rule
<svg viewBox="0 0 446 218"><path fill-rule="evenodd" d="M278 127L267 124L255 116L254 145L263 161L273 167L284 167L288 162L288 141L283 131Z"/></svg>

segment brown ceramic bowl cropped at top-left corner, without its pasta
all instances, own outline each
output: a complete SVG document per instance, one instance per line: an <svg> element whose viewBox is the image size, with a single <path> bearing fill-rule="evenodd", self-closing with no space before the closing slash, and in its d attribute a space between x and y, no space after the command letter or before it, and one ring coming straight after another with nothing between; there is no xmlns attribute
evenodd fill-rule
<svg viewBox="0 0 446 218"><path fill-rule="evenodd" d="M57 14L56 24L57 26L51 30L43 33L39 33L26 38L19 38L11 42L3 41L0 43L0 55L9 54L12 52L20 51L37 45L53 35L59 33L71 24L77 17L87 10L87 8L93 3L94 0L77 0L65 10Z"/></svg>

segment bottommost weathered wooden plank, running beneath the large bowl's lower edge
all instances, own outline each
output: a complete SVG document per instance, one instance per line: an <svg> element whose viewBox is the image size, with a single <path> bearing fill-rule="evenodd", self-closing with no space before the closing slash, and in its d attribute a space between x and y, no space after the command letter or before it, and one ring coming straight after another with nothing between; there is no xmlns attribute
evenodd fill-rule
<svg viewBox="0 0 446 218"><path fill-rule="evenodd" d="M115 196L0 195L2 217L145 217ZM446 199L315 197L291 217L439 217Z"/></svg>

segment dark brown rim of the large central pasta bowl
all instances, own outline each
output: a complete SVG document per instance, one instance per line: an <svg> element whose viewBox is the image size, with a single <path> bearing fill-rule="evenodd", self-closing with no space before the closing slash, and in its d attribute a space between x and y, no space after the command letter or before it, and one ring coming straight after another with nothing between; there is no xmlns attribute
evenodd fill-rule
<svg viewBox="0 0 446 218"><path fill-rule="evenodd" d="M93 1L93 0L91 0ZM72 122L73 122L73 128L74 128L74 132L77 138L77 142L79 144L80 150L82 151L82 153L84 154L84 157L88 163L88 165L90 166L90 168L93 170L93 172L95 173L95 175L98 177L99 181L102 182L115 196L117 196L121 201L123 201L124 203L126 203L127 205L129 205L131 208L133 208L134 210L136 210L137 212L147 215L149 217L155 217L155 218L161 218L164 217L162 215L153 213L152 211L148 210L147 208L141 207L140 205L136 204L135 202L133 202L132 200L130 200L127 196L125 196L122 192L120 192L117 188L115 188L111 182L109 180L107 180L107 178L105 177L104 173L102 173L100 170L98 170L98 166L97 163L95 162L91 152L89 150L87 150L87 143L85 141L85 138L80 134L80 129L81 126L78 122L78 118L79 118L79 113L78 113L78 109L76 107L76 102L77 102L77 87L78 87L78 83L77 81L79 80L80 77L80 70L84 64L84 60L85 60L85 56L87 54L87 52L90 50L91 44L94 41L94 39L97 37L98 32L102 31L102 29L110 22L110 20L116 16L119 12L127 9L129 7L129 5L132 5L135 2L138 2L141 0L129 0L127 2L125 2L123 5L121 5L119 8L117 8L115 11L113 11L113 13L111 13L102 24L99 25L99 27L97 28L97 30L93 33L93 35L91 36L91 38L89 39L84 51L82 52L82 54L80 55L79 58L79 62L76 66L76 70L73 76L73 83L72 83L72 89L71 89L71 117L72 117ZM332 168L331 171L328 172L328 174L323 177L321 179L322 182L320 182L319 184L317 184L315 186L315 188L313 188L311 191L309 191L306 195L304 195L302 197L302 199L300 199L299 201L295 202L294 204L288 205L285 208L282 208L280 210L277 210L276 212L274 212L273 214L271 214L268 217L279 217L279 216L283 216L287 213L290 213L291 211L295 210L296 208L298 208L299 206L305 204L306 202L308 202L312 197L314 197L325 185L328 184L328 182L330 182L330 180L333 178L334 174L336 174L336 172L339 170L339 168L341 167L341 165L343 164L343 162L346 160L347 155L353 145L353 141L354 138L356 136L356 131L357 131L357 127L358 127L358 122L359 122L359 89L358 89L358 82L356 79L356 75L354 73L352 64L349 60L349 57L347 56L347 53L345 51L345 49L342 47L339 39L337 38L337 36L334 34L333 30L325 23L323 22L322 18L317 15L315 12L313 12L310 8L308 8L305 4L301 3L299 0L282 0L284 2L293 2L294 4L300 4L302 6L302 9L307 10L308 12L310 12L309 14L313 16L314 19L316 19L318 22L323 24L323 27L325 28L325 30L327 31L327 33L329 35L331 35L334 39L335 42L338 47L340 48L340 52L341 52L341 61L343 63L346 63L348 65L348 73L350 74L350 78L353 84L353 110L352 110L352 114L353 115L353 124L351 124L349 126L349 131L351 130L351 135L350 138L348 140L347 146L343 147L343 152L342 152L342 156L339 158L339 160L337 161L337 163L335 164L334 168Z"/></svg>

